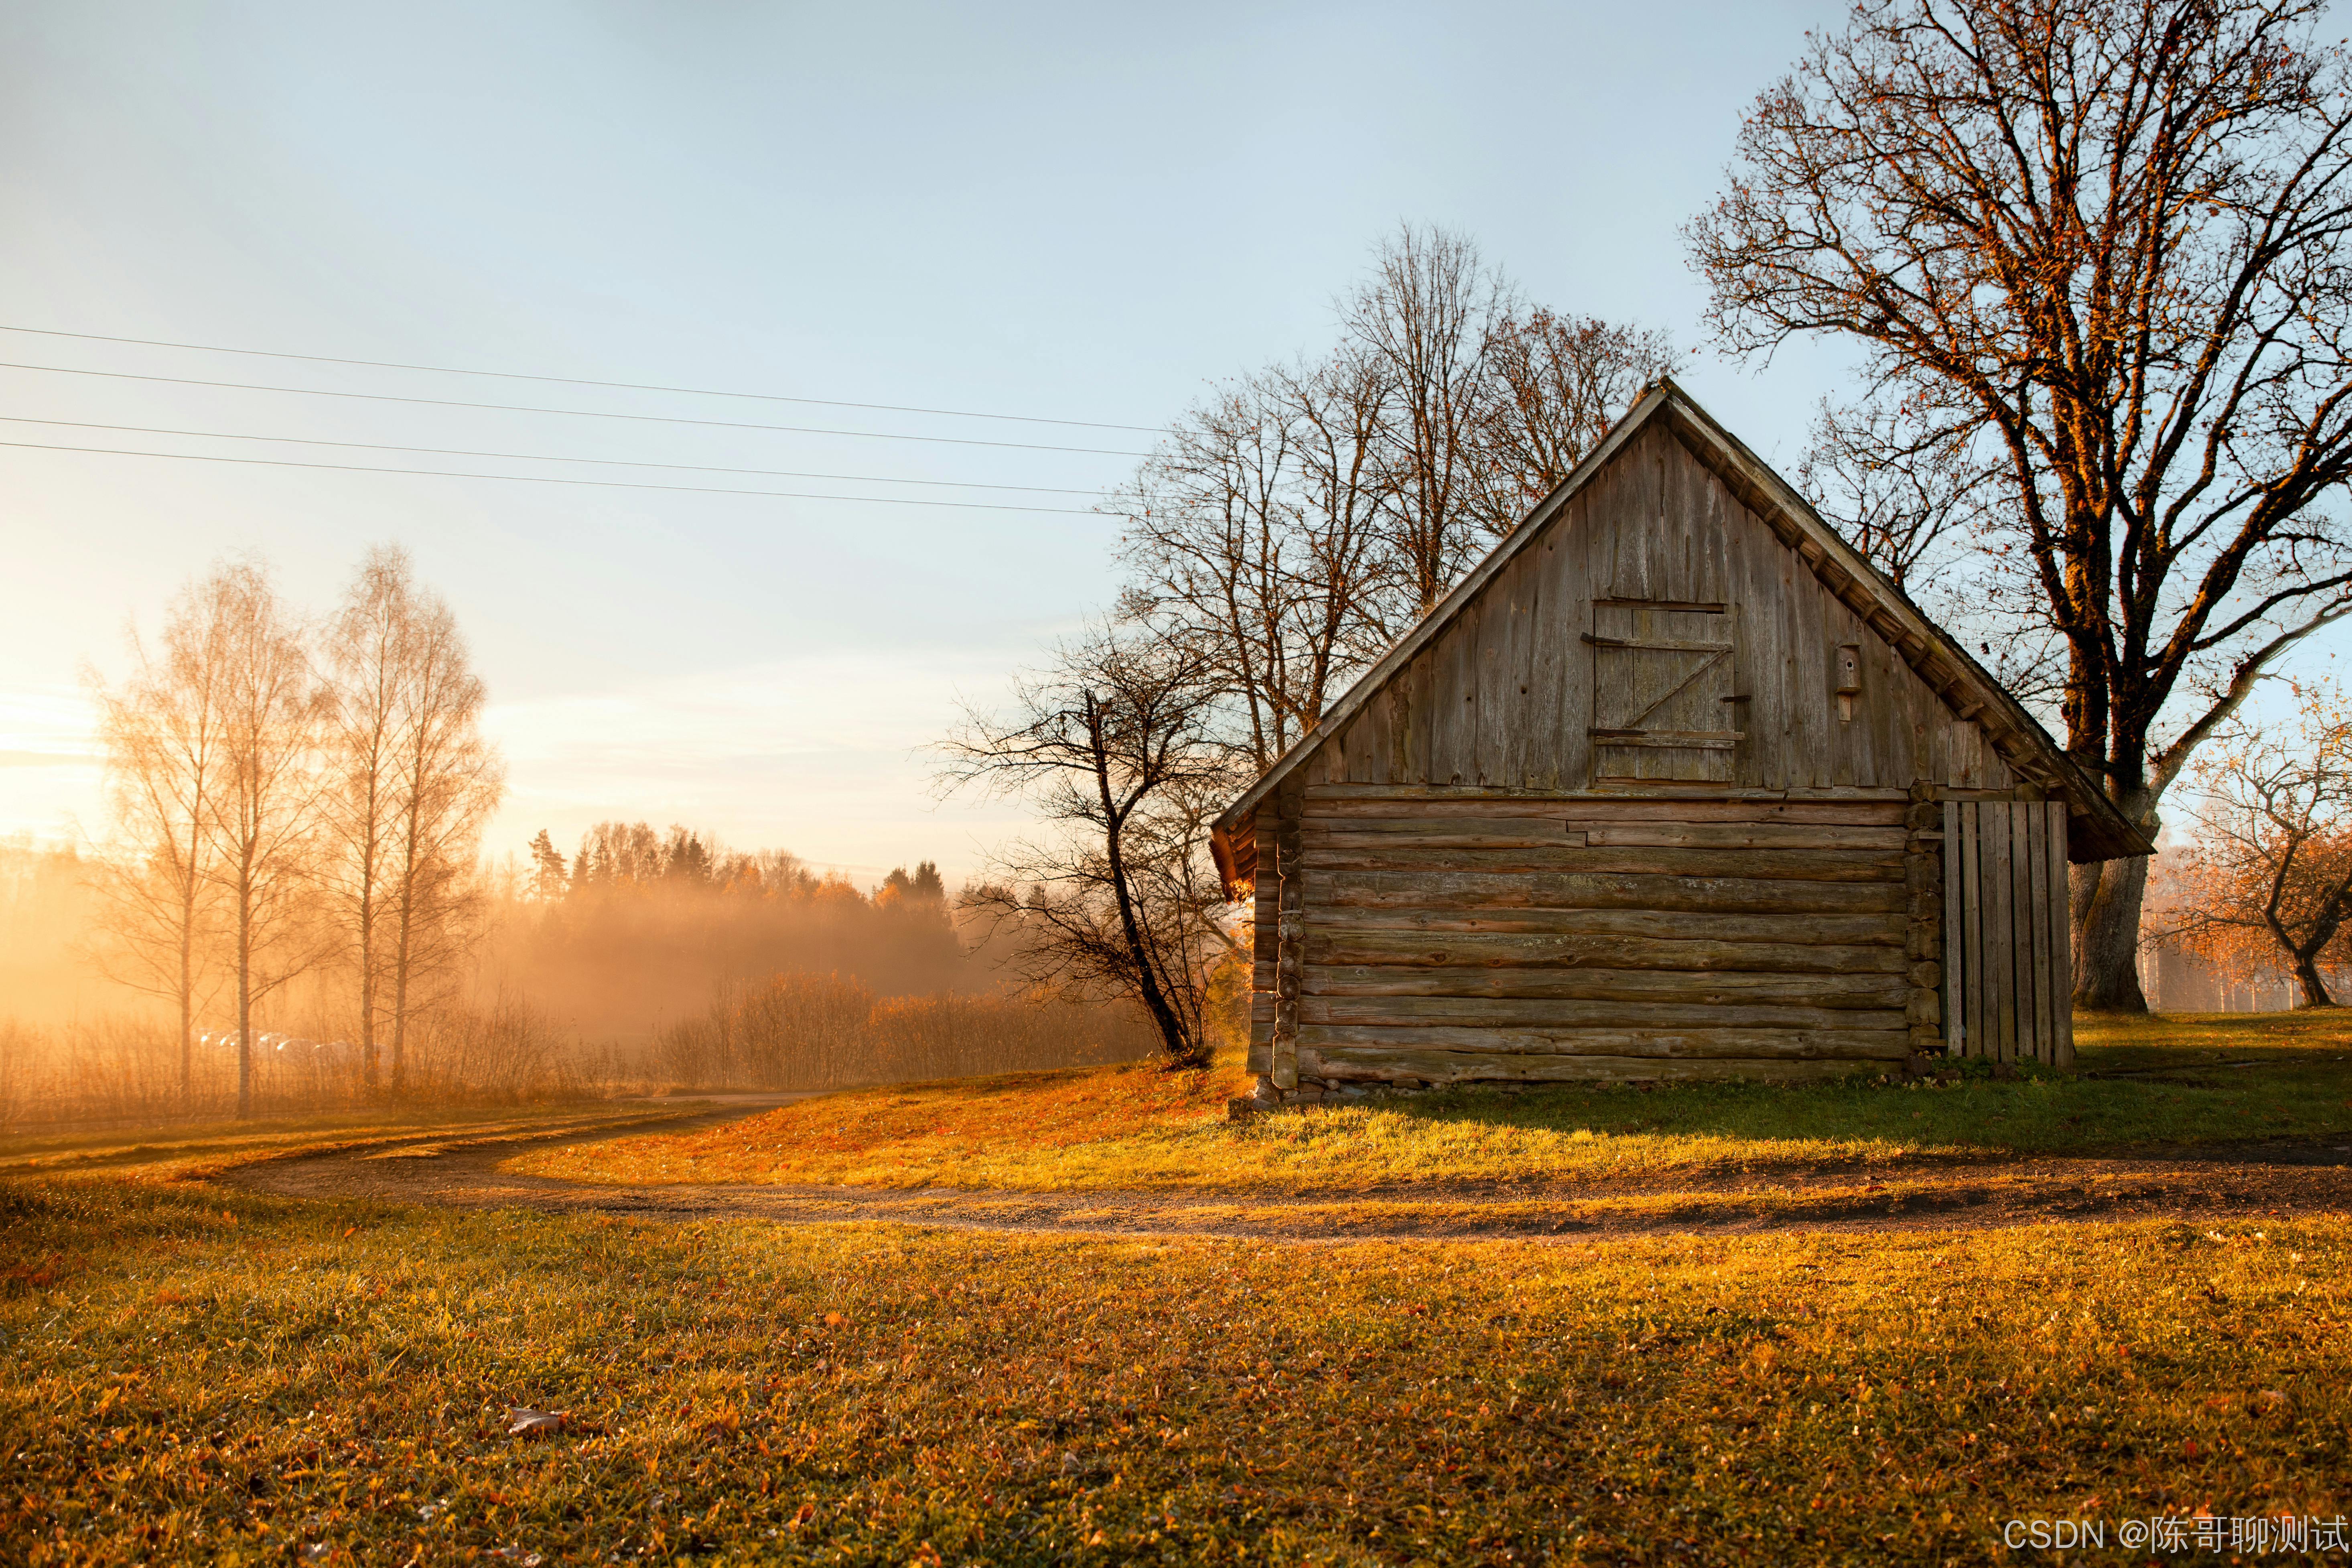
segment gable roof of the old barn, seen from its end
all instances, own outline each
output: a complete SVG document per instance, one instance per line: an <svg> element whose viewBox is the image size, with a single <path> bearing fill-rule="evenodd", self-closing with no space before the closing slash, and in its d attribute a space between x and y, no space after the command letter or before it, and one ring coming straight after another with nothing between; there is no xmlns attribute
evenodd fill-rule
<svg viewBox="0 0 2352 1568"><path fill-rule="evenodd" d="M1249 790L1216 818L1209 835L1218 870L1232 879L1235 830L1251 820L1282 780L1303 769L1414 656L1430 646L1470 607L1519 550L1550 524L1576 491L1625 449L1649 425L1665 421L1675 440L1698 458L1724 487L1752 510L1773 536L1795 550L1813 576L1860 616L1903 656L1945 705L1976 724L2009 769L2067 804L2067 858L2114 860L2154 851L2138 827L2107 799L2082 766L2051 738L2042 722L2018 703L2002 682L1969 656L1959 642L1865 562L1837 529L1820 520L1804 496L1776 475L1757 454L1740 444L1700 409L1689 393L1661 376L1632 409L1609 430L1559 489L1538 501L1526 520L1498 543L1486 559L1463 576L1421 623L1364 672L1322 719L1301 736Z"/></svg>

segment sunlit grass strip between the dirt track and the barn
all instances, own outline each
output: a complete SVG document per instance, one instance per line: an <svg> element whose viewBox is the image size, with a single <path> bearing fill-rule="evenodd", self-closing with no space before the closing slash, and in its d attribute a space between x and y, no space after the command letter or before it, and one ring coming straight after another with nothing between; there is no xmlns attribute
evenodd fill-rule
<svg viewBox="0 0 2352 1568"><path fill-rule="evenodd" d="M1098 1067L826 1095L517 1168L588 1182L1345 1192L2352 1133L2352 1013L2086 1020L2077 1039L2074 1072L2018 1081L1472 1088L1242 1124L1225 1119L1247 1088L1237 1067Z"/></svg>

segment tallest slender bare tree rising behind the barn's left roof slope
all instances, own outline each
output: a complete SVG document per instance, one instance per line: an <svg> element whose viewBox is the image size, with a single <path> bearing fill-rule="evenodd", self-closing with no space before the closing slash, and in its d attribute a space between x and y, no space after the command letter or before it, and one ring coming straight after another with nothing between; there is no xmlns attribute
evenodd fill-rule
<svg viewBox="0 0 2352 1568"><path fill-rule="evenodd" d="M1341 306L1352 353L1385 386L1381 465L1390 548L1411 614L1428 614L1477 557L1479 435L1496 334L1517 294L1468 237L1402 226Z"/></svg>

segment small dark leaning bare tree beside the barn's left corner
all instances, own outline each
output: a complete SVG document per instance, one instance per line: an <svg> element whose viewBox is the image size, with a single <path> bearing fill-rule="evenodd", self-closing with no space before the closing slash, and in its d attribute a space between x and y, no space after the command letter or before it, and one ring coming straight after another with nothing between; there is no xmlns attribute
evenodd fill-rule
<svg viewBox="0 0 2352 1568"><path fill-rule="evenodd" d="M1207 856L1232 788L1218 701L1185 644L1096 628L1016 686L1011 715L967 710L943 745L946 788L1025 799L1049 832L1007 849L967 907L1016 938L1025 978L1138 1001L1169 1067L1209 1063L1209 971L1237 952Z"/></svg>

